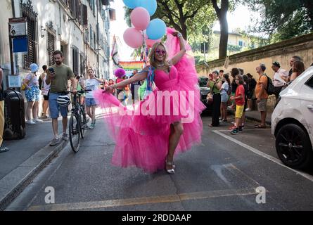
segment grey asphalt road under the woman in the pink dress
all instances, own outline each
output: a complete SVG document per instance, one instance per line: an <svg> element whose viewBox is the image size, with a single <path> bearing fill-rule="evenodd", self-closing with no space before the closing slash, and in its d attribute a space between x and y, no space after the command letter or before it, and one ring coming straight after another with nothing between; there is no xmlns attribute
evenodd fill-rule
<svg viewBox="0 0 313 225"><path fill-rule="evenodd" d="M97 120L79 153L63 150L7 210L313 210L313 176L281 165L270 129L248 122L231 136L229 124L209 123L203 117L203 143L178 155L169 175L113 167L114 143ZM47 187L54 204L45 203Z"/></svg>

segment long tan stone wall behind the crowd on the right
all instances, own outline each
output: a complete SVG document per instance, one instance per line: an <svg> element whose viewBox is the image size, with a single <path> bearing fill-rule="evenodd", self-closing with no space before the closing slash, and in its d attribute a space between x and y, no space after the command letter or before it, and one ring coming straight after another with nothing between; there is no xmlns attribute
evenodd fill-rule
<svg viewBox="0 0 313 225"><path fill-rule="evenodd" d="M267 65L265 72L269 77L273 77L272 63L278 61L281 68L290 70L289 59L292 56L300 56L305 63L305 68L309 68L313 63L313 33L229 56L227 68L224 68L225 58L223 58L207 62L207 65L196 65L196 70L201 76L208 75L212 70L223 69L225 72L230 72L231 68L243 68L245 74L249 72L257 77L255 68L260 63L264 63Z"/></svg>

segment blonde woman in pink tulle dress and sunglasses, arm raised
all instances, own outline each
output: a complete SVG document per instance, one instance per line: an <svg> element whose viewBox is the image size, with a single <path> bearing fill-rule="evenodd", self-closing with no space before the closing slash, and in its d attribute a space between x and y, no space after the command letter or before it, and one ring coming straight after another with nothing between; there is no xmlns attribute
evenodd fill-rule
<svg viewBox="0 0 313 225"><path fill-rule="evenodd" d="M174 174L174 153L185 152L201 142L200 113L205 105L200 101L190 53L181 34L168 28L166 44L155 43L151 49L150 66L131 79L94 93L116 143L113 165L136 166L146 172L165 169ZM131 108L110 94L113 89L143 79L147 81L146 98Z"/></svg>

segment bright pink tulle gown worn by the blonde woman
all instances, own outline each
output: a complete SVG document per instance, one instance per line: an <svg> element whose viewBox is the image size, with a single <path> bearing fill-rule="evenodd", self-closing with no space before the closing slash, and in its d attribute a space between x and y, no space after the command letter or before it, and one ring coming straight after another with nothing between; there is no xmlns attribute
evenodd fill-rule
<svg viewBox="0 0 313 225"><path fill-rule="evenodd" d="M167 30L166 46L171 58L179 51L179 40L170 33L171 30ZM186 47L187 51L191 50L189 45ZM113 165L136 166L146 172L165 169L171 124L174 122L181 121L184 127L175 154L201 142L203 124L200 113L205 105L200 101L194 59L189 53L170 68L169 74L155 70L157 89L146 100L132 105L127 113L126 107L112 94L101 89L94 93L98 105L103 108L108 132L116 143ZM170 101L162 97L163 103L160 103L160 93L176 97ZM178 112L175 109L179 109Z"/></svg>

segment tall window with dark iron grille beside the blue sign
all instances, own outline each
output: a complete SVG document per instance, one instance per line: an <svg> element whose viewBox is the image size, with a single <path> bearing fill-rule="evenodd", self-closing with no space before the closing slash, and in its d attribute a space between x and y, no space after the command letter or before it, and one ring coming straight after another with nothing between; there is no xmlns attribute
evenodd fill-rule
<svg viewBox="0 0 313 225"><path fill-rule="evenodd" d="M38 59L38 20L34 12L32 1L20 3L22 17L27 18L28 53L23 58L23 68L30 69L30 64L39 64Z"/></svg>

